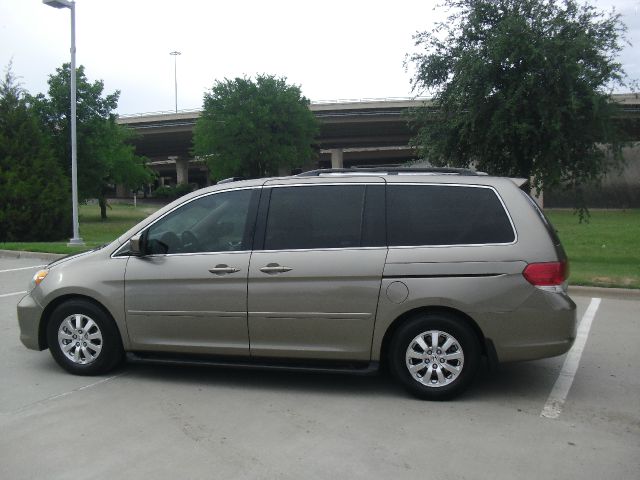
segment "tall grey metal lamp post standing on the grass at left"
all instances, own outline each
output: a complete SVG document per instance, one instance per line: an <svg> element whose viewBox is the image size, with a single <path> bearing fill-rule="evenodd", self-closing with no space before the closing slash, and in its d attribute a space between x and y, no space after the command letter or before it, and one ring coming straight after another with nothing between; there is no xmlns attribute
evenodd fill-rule
<svg viewBox="0 0 640 480"><path fill-rule="evenodd" d="M68 0L42 0L54 8L71 10L71 201L73 205L73 238L68 245L84 245L78 224L78 149L76 137L76 3Z"/></svg>

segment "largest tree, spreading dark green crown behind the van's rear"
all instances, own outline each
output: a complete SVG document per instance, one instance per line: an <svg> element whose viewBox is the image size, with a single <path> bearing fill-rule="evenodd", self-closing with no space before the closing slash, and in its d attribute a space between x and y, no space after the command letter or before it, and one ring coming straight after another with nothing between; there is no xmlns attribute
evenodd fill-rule
<svg viewBox="0 0 640 480"><path fill-rule="evenodd" d="M450 16L414 40L414 144L438 166L579 188L622 161L612 117L620 16L575 0L445 0Z"/></svg>

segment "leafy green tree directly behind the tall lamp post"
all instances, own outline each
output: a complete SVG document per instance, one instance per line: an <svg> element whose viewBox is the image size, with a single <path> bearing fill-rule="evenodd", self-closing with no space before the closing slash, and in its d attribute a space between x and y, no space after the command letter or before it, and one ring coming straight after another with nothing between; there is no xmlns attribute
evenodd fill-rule
<svg viewBox="0 0 640 480"><path fill-rule="evenodd" d="M71 171L70 71L66 63L49 76L49 96L33 98L55 153L65 171ZM76 73L76 130L78 147L78 197L97 198L102 219L107 218L106 195L114 184L136 188L151 179L146 160L135 155L129 143L133 132L116 123L114 110L119 91L103 96L104 82L87 80L84 67ZM70 175L70 173L69 173Z"/></svg>

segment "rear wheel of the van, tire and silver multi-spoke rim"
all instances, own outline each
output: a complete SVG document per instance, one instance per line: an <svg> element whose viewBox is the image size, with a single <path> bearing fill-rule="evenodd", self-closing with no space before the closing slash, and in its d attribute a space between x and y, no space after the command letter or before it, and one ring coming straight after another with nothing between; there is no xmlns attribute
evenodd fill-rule
<svg viewBox="0 0 640 480"><path fill-rule="evenodd" d="M458 317L447 313L410 318L395 332L390 347L393 376L424 400L449 400L460 395L471 384L480 364L475 333Z"/></svg>

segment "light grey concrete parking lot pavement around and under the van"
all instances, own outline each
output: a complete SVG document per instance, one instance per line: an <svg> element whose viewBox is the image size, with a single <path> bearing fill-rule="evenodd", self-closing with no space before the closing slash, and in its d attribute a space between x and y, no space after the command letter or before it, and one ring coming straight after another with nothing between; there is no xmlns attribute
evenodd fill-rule
<svg viewBox="0 0 640 480"><path fill-rule="evenodd" d="M43 263L0 257L2 479L639 478L640 296L574 295L594 315L560 403L566 356L482 368L462 398L431 403L385 375L74 377L18 338L19 292ZM541 416L550 396L556 418Z"/></svg>

